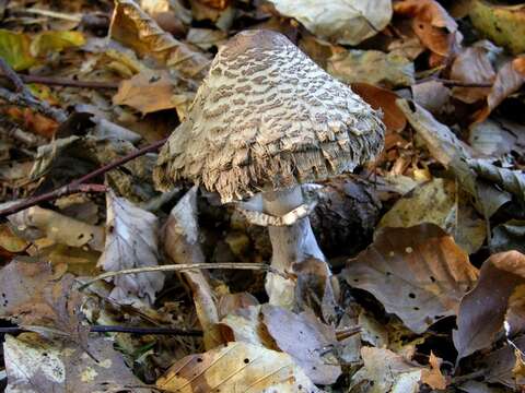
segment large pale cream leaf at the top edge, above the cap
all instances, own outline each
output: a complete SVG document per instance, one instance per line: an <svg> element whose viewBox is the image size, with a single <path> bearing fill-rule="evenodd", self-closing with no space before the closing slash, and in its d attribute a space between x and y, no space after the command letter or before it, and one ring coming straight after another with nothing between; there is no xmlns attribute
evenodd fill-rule
<svg viewBox="0 0 525 393"><path fill-rule="evenodd" d="M301 22L316 36L358 45L385 28L392 19L390 0L271 0L277 11Z"/></svg>

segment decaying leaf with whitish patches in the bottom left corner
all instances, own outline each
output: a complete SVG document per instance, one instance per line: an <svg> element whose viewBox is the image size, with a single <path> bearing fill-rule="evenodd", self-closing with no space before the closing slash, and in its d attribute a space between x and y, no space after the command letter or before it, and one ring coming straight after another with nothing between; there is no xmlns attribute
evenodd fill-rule
<svg viewBox="0 0 525 393"><path fill-rule="evenodd" d="M121 354L113 349L110 338L91 337L89 348L92 356L72 343L45 340L33 333L5 336L8 391L91 393L143 385Z"/></svg>

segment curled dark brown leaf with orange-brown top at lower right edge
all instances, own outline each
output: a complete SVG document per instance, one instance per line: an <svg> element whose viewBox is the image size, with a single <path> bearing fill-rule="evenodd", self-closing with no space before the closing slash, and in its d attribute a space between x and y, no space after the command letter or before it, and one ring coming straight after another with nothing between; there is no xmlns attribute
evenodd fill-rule
<svg viewBox="0 0 525 393"><path fill-rule="evenodd" d="M453 332L457 359L492 345L502 330L509 298L525 284L525 255L500 252L483 262L476 287L462 300Z"/></svg>

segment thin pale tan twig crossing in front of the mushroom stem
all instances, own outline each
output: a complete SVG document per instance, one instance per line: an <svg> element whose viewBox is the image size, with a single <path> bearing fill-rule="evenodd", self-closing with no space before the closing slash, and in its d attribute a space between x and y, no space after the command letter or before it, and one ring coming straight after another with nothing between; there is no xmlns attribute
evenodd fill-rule
<svg viewBox="0 0 525 393"><path fill-rule="evenodd" d="M136 267L136 269L125 269L117 272L106 272L93 279L90 279L88 283L84 283L79 287L79 290L85 289L91 284L96 283L100 279L106 279L115 277L121 274L137 274L137 273L148 273L148 272L186 272L196 269L231 269L231 270L262 270L279 274L284 278L290 278L290 275L287 273L280 272L266 263L242 263L242 262L218 262L218 263L179 263L179 264L168 264L160 266L145 266L145 267Z"/></svg>

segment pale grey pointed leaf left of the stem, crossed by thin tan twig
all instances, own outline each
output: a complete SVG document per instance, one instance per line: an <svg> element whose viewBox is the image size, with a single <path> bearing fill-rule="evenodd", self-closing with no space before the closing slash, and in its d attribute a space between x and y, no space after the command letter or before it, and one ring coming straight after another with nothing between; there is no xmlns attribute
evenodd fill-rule
<svg viewBox="0 0 525 393"><path fill-rule="evenodd" d="M107 272L159 264L158 218L113 192L106 196L106 245L98 265ZM113 279L112 298L129 302L155 301L164 285L162 272L125 274Z"/></svg>

